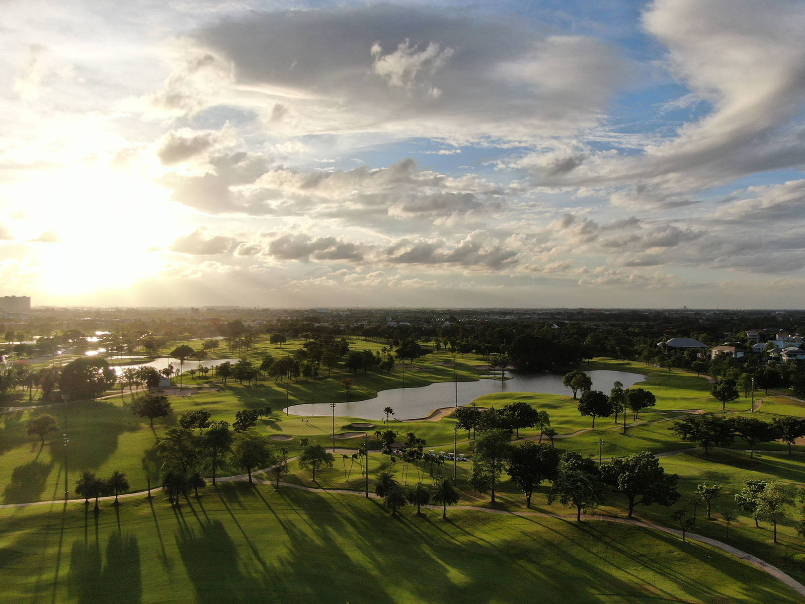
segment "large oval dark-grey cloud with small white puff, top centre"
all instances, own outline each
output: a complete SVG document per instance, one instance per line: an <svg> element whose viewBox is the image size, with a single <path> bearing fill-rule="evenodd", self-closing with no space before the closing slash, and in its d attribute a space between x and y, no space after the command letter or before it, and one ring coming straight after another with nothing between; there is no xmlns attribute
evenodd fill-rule
<svg viewBox="0 0 805 604"><path fill-rule="evenodd" d="M604 117L630 64L605 42L544 36L522 21L423 6L252 12L189 37L161 102L248 105L275 133L385 132L453 141L576 132ZM229 68L225 68L229 65ZM231 73L232 82L225 78ZM184 81L189 81L184 84ZM205 97L206 94L206 97ZM170 101L168 101L170 99Z"/></svg>

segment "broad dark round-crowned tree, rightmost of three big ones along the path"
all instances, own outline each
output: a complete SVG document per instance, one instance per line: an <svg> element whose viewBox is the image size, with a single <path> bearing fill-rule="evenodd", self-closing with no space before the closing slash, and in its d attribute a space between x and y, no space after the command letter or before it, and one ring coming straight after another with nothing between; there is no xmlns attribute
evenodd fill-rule
<svg viewBox="0 0 805 604"><path fill-rule="evenodd" d="M679 476L666 474L657 457L647 451L616 457L601 467L601 475L605 483L625 494L629 502L629 518L636 505L657 503L670 506L679 500L676 490Z"/></svg>

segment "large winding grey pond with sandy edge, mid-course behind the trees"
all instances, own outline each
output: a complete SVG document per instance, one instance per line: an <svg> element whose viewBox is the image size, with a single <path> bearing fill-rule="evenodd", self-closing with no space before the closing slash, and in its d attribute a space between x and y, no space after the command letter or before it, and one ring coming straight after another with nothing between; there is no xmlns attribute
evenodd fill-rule
<svg viewBox="0 0 805 604"><path fill-rule="evenodd" d="M585 371L592 379L592 389L609 394L614 382L621 382L628 388L642 382L642 374L630 374L625 371ZM570 388L562 385L562 374L508 374L511 379L502 383L504 392L543 392L551 395L571 396ZM336 403L336 415L342 417L360 417L366 420L384 419L383 409L394 409L394 417L398 420L413 420L425 417L434 409L450 407L456 404L469 405L481 395L501 391L501 382L493 379L481 379L477 382L439 382L418 388L393 388L378 392L374 399L357 400L349 403ZM456 394L457 392L457 394ZM328 416L331 413L328 403L307 403L292 405L285 411L295 416Z"/></svg>

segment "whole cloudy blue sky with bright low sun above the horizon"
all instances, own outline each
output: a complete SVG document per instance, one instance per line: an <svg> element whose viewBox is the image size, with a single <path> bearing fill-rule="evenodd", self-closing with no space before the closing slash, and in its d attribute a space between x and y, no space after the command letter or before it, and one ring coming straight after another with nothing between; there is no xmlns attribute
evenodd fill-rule
<svg viewBox="0 0 805 604"><path fill-rule="evenodd" d="M3 10L0 295L803 308L799 0Z"/></svg>

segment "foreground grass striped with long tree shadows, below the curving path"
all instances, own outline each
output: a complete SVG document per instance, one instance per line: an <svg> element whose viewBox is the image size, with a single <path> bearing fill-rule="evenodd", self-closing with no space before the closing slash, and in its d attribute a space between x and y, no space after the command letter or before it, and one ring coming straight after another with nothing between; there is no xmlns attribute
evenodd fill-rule
<svg viewBox="0 0 805 604"><path fill-rule="evenodd" d="M403 509L246 484L0 512L0 601L800 602L720 551L605 522Z"/></svg>

